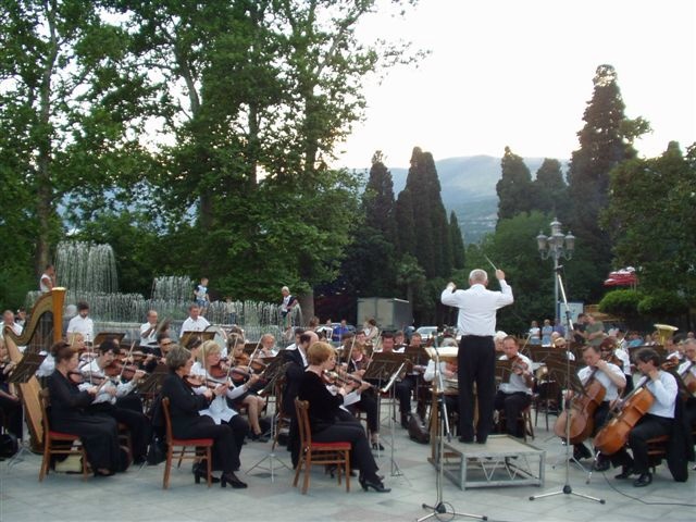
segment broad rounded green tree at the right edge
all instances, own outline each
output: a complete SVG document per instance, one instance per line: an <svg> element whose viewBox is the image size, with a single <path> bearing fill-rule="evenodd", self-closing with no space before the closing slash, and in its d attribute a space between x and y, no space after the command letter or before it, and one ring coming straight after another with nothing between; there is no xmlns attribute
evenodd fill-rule
<svg viewBox="0 0 696 522"><path fill-rule="evenodd" d="M672 291L692 306L695 158L693 147L684 157L671 142L660 157L620 164L611 173L609 207L601 214L616 265L635 266L644 293Z"/></svg>

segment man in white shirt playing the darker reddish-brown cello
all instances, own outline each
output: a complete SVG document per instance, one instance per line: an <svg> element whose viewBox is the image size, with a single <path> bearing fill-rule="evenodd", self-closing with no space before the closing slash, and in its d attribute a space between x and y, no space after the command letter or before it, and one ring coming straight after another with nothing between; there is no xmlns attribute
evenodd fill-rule
<svg viewBox="0 0 696 522"><path fill-rule="evenodd" d="M602 344L602 346L606 347L608 345ZM606 358L602 358L602 353L606 353L606 351L600 351L595 346L584 346L583 361L585 361L586 366L577 371L577 377L583 386L585 386L589 377L593 376L593 378L597 380L605 388L605 397L594 411L594 432L592 435L595 435L605 424L610 407L619 398L621 389L626 384L623 371L618 365L607 361ZM591 457L592 452L583 443L573 446L573 458L575 460L588 459ZM598 453L594 468L597 471L607 471L609 469L609 460L602 453Z"/></svg>

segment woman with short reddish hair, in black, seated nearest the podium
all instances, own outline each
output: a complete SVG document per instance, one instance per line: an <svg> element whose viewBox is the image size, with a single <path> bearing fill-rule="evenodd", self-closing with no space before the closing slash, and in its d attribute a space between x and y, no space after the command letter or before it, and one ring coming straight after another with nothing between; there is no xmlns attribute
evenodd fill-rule
<svg viewBox="0 0 696 522"><path fill-rule="evenodd" d="M309 366L302 375L298 397L300 400L309 401L312 440L318 443L349 442L351 467L360 470L359 482L362 488L388 493L390 489L384 486L377 475L378 468L362 426L355 421L338 420L344 397L353 385L334 386L334 395L322 378L324 373L333 370L336 364L334 348L327 343L314 343L309 347L307 358Z"/></svg>

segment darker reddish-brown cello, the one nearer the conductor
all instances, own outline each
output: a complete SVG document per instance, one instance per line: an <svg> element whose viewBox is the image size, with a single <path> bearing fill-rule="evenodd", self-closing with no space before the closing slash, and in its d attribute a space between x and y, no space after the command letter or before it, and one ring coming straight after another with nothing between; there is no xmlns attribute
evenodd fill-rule
<svg viewBox="0 0 696 522"><path fill-rule="evenodd" d="M607 389L595 378L598 368L594 368L587 382L585 393L571 399L570 408L564 409L554 425L554 433L559 437L570 439L570 444L580 444L592 435L595 424L595 410L601 403ZM567 433L566 423L570 411L570 430Z"/></svg>

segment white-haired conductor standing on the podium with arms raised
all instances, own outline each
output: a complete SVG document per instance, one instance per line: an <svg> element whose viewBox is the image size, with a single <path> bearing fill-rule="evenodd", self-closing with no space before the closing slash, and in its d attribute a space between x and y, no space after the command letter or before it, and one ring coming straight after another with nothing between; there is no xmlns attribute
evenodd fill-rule
<svg viewBox="0 0 696 522"><path fill-rule="evenodd" d="M461 443L474 442L473 383L476 383L478 400L476 443L485 444L493 430L496 394L496 349L493 336L496 332L496 312L513 301L512 288L505 281L505 272L496 270L496 278L500 282L500 291L488 290L488 274L485 270L475 269L469 274L469 289L458 290L455 283L450 282L440 296L443 304L459 308L457 326L461 334L458 352Z"/></svg>

